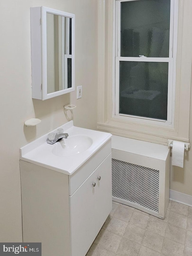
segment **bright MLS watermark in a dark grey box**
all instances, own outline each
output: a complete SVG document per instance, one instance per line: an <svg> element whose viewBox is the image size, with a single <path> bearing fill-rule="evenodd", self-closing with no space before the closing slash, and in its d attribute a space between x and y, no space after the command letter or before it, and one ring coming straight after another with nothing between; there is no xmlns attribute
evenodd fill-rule
<svg viewBox="0 0 192 256"><path fill-rule="evenodd" d="M0 256L41 256L41 243L0 243Z"/></svg>

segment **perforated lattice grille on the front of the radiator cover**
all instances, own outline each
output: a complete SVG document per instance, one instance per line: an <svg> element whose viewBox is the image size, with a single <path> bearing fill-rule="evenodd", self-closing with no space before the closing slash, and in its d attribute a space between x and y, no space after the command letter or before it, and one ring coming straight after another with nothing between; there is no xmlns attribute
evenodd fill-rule
<svg viewBox="0 0 192 256"><path fill-rule="evenodd" d="M158 212L159 171L112 159L112 193Z"/></svg>

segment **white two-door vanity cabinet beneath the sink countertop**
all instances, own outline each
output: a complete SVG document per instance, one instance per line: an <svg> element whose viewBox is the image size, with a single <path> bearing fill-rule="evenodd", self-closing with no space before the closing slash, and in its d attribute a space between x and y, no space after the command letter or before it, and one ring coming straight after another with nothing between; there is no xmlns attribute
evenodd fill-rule
<svg viewBox="0 0 192 256"><path fill-rule="evenodd" d="M112 209L111 139L67 175L20 160L23 242L85 256Z"/></svg>

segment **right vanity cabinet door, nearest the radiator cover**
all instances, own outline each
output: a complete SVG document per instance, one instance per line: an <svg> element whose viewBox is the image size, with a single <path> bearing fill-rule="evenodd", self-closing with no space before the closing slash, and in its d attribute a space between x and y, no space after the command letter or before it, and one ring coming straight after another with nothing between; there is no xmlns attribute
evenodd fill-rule
<svg viewBox="0 0 192 256"><path fill-rule="evenodd" d="M95 196L95 218L96 235L100 231L107 216L112 210L112 174L111 174L111 153L95 170L96 189Z"/></svg>

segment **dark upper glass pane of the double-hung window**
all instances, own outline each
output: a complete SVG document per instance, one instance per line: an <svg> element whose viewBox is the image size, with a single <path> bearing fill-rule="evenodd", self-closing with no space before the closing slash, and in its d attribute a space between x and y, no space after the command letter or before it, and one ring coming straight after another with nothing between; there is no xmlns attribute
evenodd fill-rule
<svg viewBox="0 0 192 256"><path fill-rule="evenodd" d="M170 0L121 3L121 56L169 57Z"/></svg>

